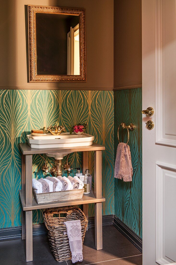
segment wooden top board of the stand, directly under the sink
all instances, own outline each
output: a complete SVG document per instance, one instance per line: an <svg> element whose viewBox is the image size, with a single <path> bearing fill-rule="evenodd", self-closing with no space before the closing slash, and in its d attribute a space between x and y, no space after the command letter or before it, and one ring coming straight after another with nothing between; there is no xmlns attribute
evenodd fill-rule
<svg viewBox="0 0 176 265"><path fill-rule="evenodd" d="M52 149L34 149L31 148L27 143L18 144L22 154L46 154L46 153L73 153L82 151L100 151L105 150L105 147L100 144L93 143L90 146L85 147L67 147L67 148L52 148Z"/></svg>

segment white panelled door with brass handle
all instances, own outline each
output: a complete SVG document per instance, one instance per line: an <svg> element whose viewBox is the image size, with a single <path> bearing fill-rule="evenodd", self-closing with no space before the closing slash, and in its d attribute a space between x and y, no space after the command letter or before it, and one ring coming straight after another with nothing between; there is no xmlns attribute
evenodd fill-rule
<svg viewBox="0 0 176 265"><path fill-rule="evenodd" d="M143 265L176 262L176 0L142 0ZM148 130L146 122L153 121ZM174 263L175 264L175 263Z"/></svg>

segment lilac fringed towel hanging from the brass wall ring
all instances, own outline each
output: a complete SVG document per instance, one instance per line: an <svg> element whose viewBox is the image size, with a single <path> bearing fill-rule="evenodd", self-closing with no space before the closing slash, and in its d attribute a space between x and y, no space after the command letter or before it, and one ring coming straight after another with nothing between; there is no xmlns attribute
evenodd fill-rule
<svg viewBox="0 0 176 265"><path fill-rule="evenodd" d="M122 179L123 181L132 181L133 168L131 163L131 152L129 145L119 143L115 158L114 178Z"/></svg>

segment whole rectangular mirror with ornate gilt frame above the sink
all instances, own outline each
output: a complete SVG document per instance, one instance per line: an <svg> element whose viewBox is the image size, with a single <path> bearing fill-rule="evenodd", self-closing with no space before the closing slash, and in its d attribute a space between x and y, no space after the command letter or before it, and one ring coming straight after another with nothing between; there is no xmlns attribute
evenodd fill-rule
<svg viewBox="0 0 176 265"><path fill-rule="evenodd" d="M28 5L29 82L86 82L85 9Z"/></svg>

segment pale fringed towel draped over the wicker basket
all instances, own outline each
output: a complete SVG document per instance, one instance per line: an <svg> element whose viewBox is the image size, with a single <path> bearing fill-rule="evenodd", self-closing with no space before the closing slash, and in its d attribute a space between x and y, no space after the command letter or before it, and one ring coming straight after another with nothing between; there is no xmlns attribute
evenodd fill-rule
<svg viewBox="0 0 176 265"><path fill-rule="evenodd" d="M72 263L83 261L81 221L73 220L64 222L67 228L67 236L72 253Z"/></svg>

